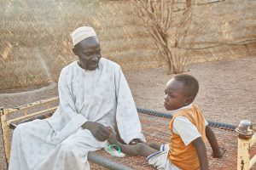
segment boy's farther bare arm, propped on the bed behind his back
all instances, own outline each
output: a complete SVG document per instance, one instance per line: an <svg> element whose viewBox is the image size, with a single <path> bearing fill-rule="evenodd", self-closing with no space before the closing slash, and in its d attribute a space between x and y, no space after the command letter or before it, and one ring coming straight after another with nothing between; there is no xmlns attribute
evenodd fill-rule
<svg viewBox="0 0 256 170"><path fill-rule="evenodd" d="M206 135L209 143L211 144L212 147L212 156L216 158L220 158L224 155L224 150L221 150L218 147L218 142L217 139L215 138L214 133L212 132L212 128L207 125L206 127Z"/></svg>

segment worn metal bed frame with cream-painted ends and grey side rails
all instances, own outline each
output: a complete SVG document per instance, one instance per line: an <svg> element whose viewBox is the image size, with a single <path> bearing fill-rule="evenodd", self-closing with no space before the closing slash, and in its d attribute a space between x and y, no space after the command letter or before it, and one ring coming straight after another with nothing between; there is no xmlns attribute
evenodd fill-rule
<svg viewBox="0 0 256 170"><path fill-rule="evenodd" d="M30 114L26 114L23 116L18 116L16 118L9 119L8 117L15 112L26 113L27 110L45 105L51 102L57 102L58 97L53 97L49 99L44 99L40 101L33 102L28 105L20 105L14 108L0 108L1 113L1 130L3 133L3 145L4 145L4 154L6 158L7 166L9 164L9 156L10 156L10 137L9 130L15 129L20 123L30 122L34 119L44 119L51 116L56 110L57 106L50 106L48 109L32 112ZM162 113L159 111L153 111L143 108L137 108L137 111L140 113L148 114L151 116L160 116L166 118L172 118L172 115L168 113ZM225 130L236 131L238 135L238 147L237 147L237 170L247 170L250 167L253 167L256 162L256 155L250 159L249 150L256 143L256 133L255 128L253 128L252 122L248 120L242 120L238 127L235 125L230 125L222 122L211 122L208 121L209 125L212 127L218 127ZM109 169L119 169L119 170L131 170L131 167L126 167L125 165L119 164L117 162L108 160L105 157L99 156L98 154L91 152L88 155L88 161L94 162L102 167L107 167Z"/></svg>

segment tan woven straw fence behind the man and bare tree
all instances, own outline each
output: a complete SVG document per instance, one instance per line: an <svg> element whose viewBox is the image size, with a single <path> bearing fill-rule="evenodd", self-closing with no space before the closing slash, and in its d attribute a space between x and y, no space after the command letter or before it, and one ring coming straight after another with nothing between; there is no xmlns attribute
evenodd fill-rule
<svg viewBox="0 0 256 170"><path fill-rule="evenodd" d="M255 55L255 7L249 0L194 6L191 34L180 48L188 48L192 62ZM103 55L125 70L162 65L129 1L0 0L0 10L0 91L57 81L76 59L69 34L78 26L95 27Z"/></svg>

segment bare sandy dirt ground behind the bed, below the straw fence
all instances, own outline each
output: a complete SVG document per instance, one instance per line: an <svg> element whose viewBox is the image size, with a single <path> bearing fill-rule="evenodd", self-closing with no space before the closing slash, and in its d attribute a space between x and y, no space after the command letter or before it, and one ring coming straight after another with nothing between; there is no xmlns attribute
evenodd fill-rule
<svg viewBox="0 0 256 170"><path fill-rule="evenodd" d="M200 82L195 103L201 106L207 120L238 125L242 119L248 119L256 123L256 57L195 64L188 70ZM138 107L165 111L164 88L171 78L166 76L165 68L125 71L125 77ZM56 88L13 96L0 94L0 106L13 107L55 95ZM0 170L3 170L6 165L2 138L0 142Z"/></svg>

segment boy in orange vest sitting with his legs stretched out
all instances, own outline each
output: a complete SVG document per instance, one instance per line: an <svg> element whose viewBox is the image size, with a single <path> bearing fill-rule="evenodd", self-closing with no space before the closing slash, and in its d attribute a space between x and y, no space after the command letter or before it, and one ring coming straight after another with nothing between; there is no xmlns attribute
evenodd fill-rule
<svg viewBox="0 0 256 170"><path fill-rule="evenodd" d="M118 144L128 155L147 157L148 163L158 169L208 169L206 139L212 146L213 157L222 157L224 150L218 147L199 108L192 104L198 88L195 77L186 74L177 75L166 83L164 105L167 111L174 112L169 126L170 144L121 144L113 135L108 139L109 143Z"/></svg>

